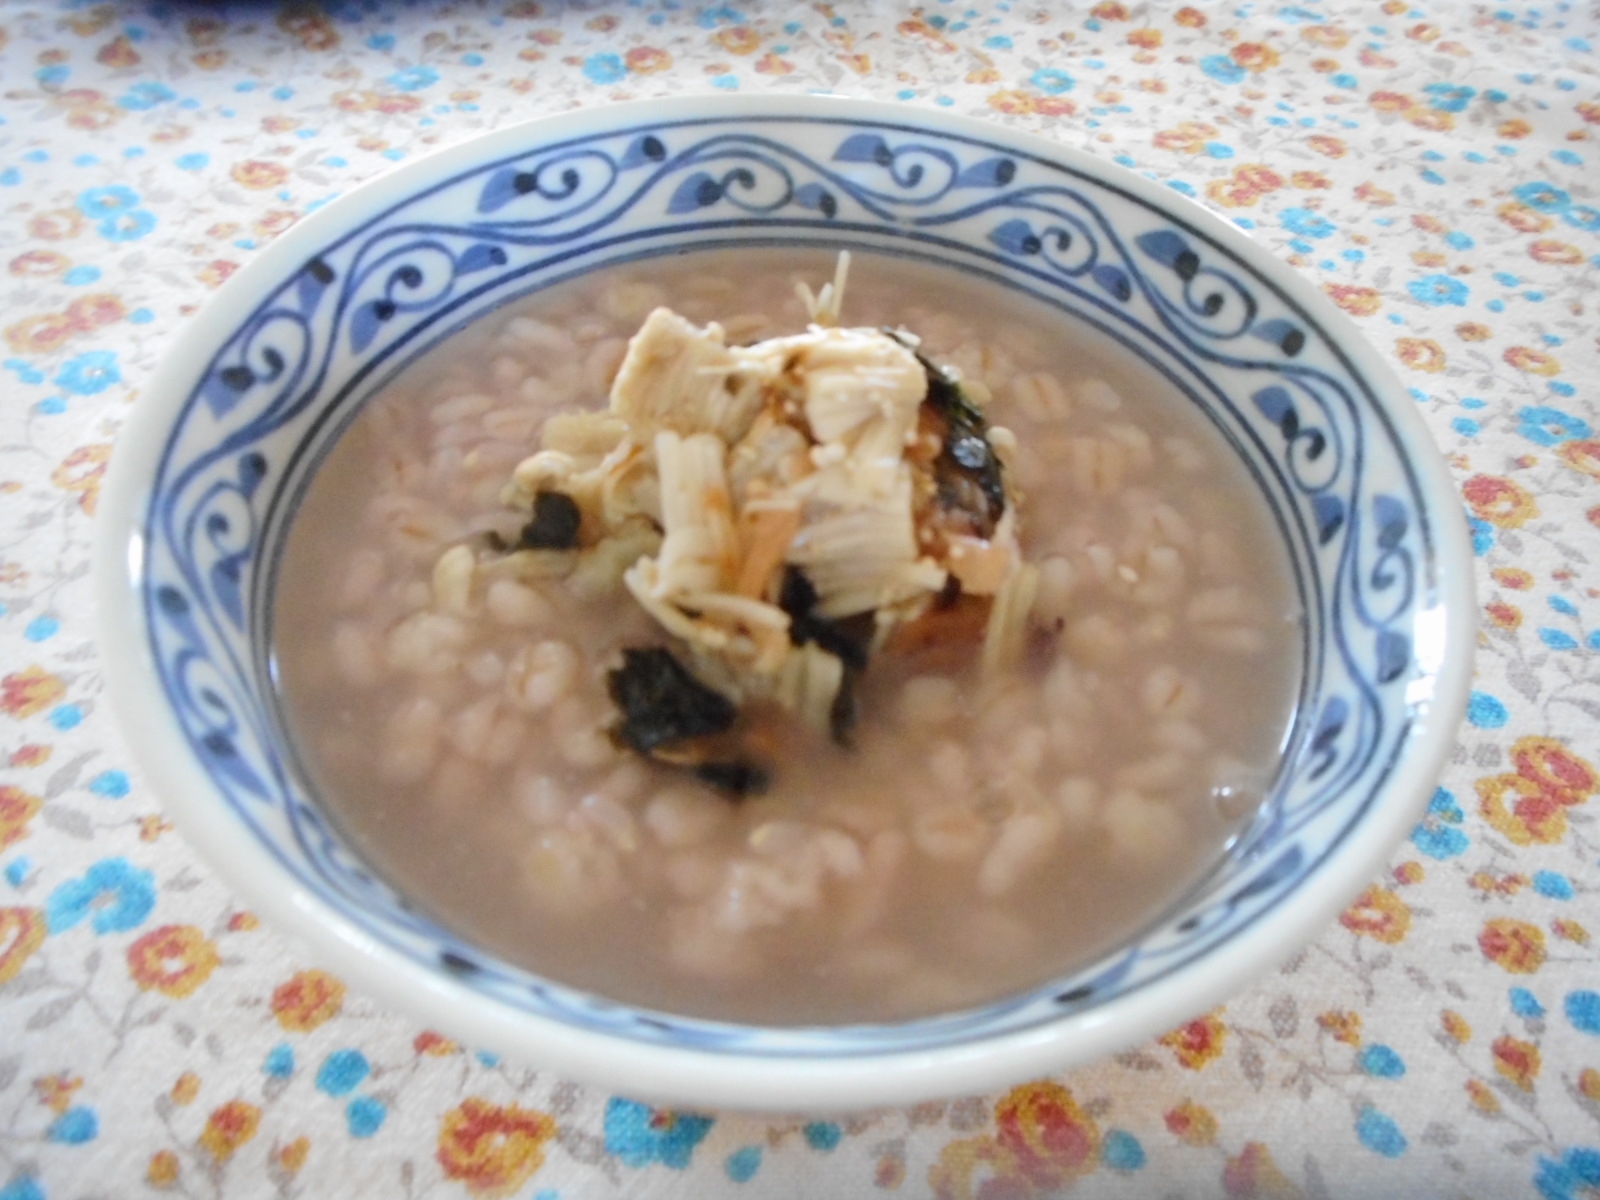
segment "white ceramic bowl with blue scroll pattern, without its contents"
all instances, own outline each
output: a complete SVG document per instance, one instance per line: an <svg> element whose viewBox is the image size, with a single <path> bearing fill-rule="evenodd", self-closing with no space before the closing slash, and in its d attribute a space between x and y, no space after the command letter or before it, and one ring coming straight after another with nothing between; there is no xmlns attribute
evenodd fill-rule
<svg viewBox="0 0 1600 1200"><path fill-rule="evenodd" d="M978 1011L757 1029L538 979L405 907L285 752L262 629L309 464L461 323L608 262L739 243L890 250L1056 306L1163 371L1246 461L1307 613L1264 818L1181 910ZM182 832L278 928L470 1043L632 1094L816 1110L1085 1062L1315 936L1418 819L1466 701L1470 554L1413 403L1307 282L1198 205L1042 138L824 96L534 120L309 216L173 349L112 459L102 650Z"/></svg>

